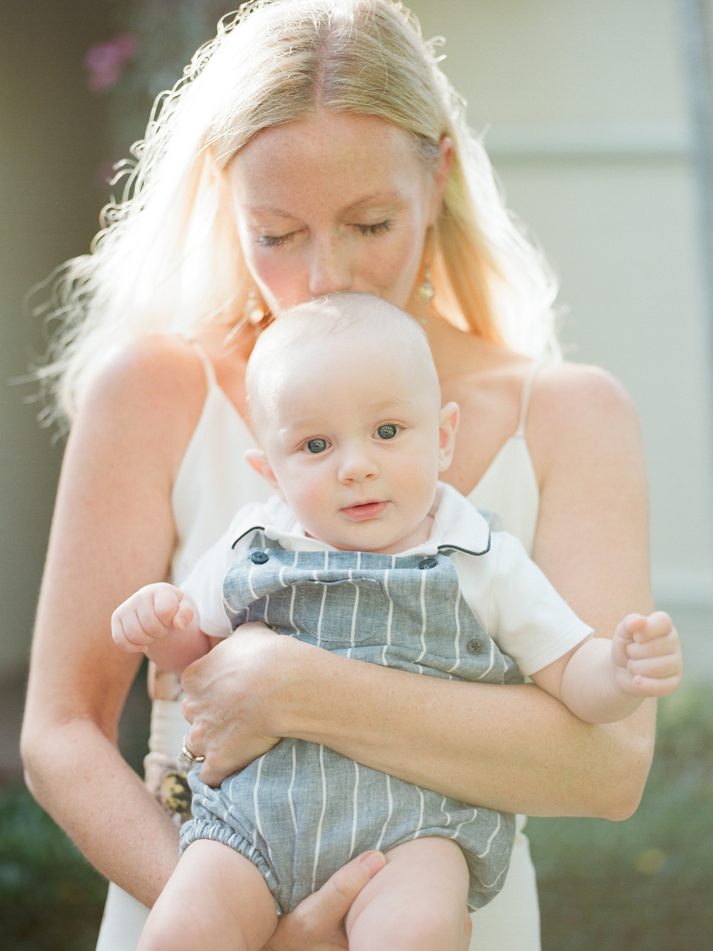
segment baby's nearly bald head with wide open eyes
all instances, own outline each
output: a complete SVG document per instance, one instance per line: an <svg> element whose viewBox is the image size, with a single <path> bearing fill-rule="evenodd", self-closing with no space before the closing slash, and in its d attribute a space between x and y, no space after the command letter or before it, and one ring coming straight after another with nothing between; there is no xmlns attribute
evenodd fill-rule
<svg viewBox="0 0 713 951"><path fill-rule="evenodd" d="M368 294L299 304L260 335L247 393L260 443L248 460L307 534L383 553L428 538L458 408L441 409L412 317Z"/></svg>

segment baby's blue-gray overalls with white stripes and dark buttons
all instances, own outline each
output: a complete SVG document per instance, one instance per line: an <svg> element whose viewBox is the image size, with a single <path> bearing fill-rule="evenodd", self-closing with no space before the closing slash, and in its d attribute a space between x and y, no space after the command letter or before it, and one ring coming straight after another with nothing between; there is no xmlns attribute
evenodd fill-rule
<svg viewBox="0 0 713 951"><path fill-rule="evenodd" d="M522 682L463 599L452 547L441 546L433 557L290 552L260 530L250 532L254 547L237 556L223 585L233 628L263 621L308 644L396 670ZM237 849L258 866L280 912L360 852L388 851L420 836L460 845L472 910L505 881L510 814L412 786L329 747L283 739L220 789L205 786L198 774L199 767L188 776L193 819L183 825L182 849L196 839Z"/></svg>

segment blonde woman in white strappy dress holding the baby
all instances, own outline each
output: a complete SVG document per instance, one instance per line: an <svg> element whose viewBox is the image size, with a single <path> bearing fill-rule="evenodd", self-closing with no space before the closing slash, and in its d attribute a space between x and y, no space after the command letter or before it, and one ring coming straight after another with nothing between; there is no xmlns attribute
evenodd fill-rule
<svg viewBox="0 0 713 951"><path fill-rule="evenodd" d="M177 860L178 832L114 746L136 663L108 621L142 585L180 580L241 502L266 494L242 452L245 361L270 315L340 290L407 309L429 334L443 398L461 407L453 485L501 515L601 635L651 610L633 411L599 371L541 365L549 273L399 6L256 5L197 54L189 80L63 285L67 333L48 372L73 424L23 739L38 801L144 905ZM90 604L78 596L87 575ZM513 812L621 819L638 804L650 705L592 727L530 686L426 680L250 626L184 674L186 747L212 785L277 735ZM148 772L164 800L187 729L176 691L155 679ZM371 715L357 718L365 697ZM271 947L346 946L340 918L378 865L346 866ZM520 837L472 947L539 947L533 881ZM131 902L112 892L103 951L133 947Z"/></svg>

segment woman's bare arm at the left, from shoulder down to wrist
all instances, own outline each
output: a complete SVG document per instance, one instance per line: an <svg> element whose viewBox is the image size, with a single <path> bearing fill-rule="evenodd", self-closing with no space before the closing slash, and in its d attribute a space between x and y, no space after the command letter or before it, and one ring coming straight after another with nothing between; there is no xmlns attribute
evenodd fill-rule
<svg viewBox="0 0 713 951"><path fill-rule="evenodd" d="M33 796L93 865L149 906L178 860L178 830L116 747L140 657L116 647L110 618L166 576L173 478L204 394L190 347L154 338L115 360L84 399L52 522L22 734Z"/></svg>

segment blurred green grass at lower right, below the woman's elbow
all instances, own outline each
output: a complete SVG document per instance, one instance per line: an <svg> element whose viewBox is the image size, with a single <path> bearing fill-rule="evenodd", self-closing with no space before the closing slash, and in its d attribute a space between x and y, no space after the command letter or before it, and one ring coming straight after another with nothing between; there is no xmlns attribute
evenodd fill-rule
<svg viewBox="0 0 713 951"><path fill-rule="evenodd" d="M712 794L713 691L682 689L631 819L530 819L544 951L712 948Z"/></svg>

